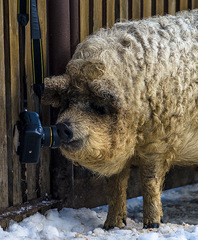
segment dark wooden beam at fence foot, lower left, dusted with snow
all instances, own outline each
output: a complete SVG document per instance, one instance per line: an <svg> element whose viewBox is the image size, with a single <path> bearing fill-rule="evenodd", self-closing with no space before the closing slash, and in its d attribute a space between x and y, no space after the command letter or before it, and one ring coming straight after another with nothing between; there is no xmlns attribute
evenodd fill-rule
<svg viewBox="0 0 198 240"><path fill-rule="evenodd" d="M41 212L44 214L47 210L51 208L61 208L62 202L60 200L50 200L46 201L43 198L32 200L15 207L10 207L7 209L0 210L0 226L2 228L7 228L9 226L10 220L20 222L24 217L31 216L36 212Z"/></svg>

